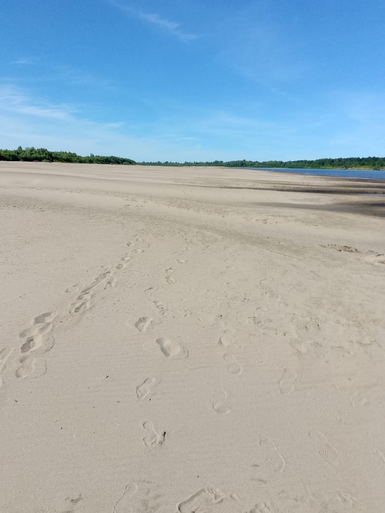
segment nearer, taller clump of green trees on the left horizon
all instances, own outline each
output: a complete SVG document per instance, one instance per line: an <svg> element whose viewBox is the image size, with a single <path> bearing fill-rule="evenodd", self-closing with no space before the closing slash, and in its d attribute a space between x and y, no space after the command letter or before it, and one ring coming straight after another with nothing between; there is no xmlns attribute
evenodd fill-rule
<svg viewBox="0 0 385 513"><path fill-rule="evenodd" d="M76 164L136 164L131 159L124 159L114 155L103 156L91 153L81 156L71 151L48 151L46 148L22 148L15 150L0 150L0 161L23 162L68 162Z"/></svg>

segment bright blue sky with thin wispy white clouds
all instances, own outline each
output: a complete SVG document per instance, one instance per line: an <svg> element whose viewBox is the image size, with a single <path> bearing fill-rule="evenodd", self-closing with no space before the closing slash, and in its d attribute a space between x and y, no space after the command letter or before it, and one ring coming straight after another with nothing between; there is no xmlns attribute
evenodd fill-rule
<svg viewBox="0 0 385 513"><path fill-rule="evenodd" d="M383 0L3 0L0 147L384 155Z"/></svg>

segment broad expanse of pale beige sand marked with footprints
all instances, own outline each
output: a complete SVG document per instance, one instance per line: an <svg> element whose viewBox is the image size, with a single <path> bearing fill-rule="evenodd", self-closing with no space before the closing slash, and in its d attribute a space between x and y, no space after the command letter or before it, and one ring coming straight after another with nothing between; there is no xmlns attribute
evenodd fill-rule
<svg viewBox="0 0 385 513"><path fill-rule="evenodd" d="M383 183L0 163L0 187L2 513L383 513L384 208L294 192Z"/></svg>

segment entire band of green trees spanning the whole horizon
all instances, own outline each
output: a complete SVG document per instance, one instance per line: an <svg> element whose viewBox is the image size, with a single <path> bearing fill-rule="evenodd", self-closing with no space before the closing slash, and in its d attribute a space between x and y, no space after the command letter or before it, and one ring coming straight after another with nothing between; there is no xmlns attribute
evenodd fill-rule
<svg viewBox="0 0 385 513"><path fill-rule="evenodd" d="M219 166L219 167L271 167L288 169L385 169L385 157L348 157L347 159L317 159L298 161L214 161L214 162L138 162L117 156L77 155L69 151L48 151L46 148L1 150L0 161L68 162L79 164L139 164L146 166Z"/></svg>

